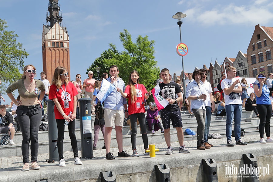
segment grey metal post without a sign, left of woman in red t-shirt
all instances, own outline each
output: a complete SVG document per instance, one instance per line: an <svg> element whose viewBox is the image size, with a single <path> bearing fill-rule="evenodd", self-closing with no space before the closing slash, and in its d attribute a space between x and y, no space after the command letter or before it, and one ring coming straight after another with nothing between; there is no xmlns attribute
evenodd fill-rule
<svg viewBox="0 0 273 182"><path fill-rule="evenodd" d="M57 148L58 129L54 114L55 104L50 99L47 99L45 102L47 103L49 161L59 161Z"/></svg>

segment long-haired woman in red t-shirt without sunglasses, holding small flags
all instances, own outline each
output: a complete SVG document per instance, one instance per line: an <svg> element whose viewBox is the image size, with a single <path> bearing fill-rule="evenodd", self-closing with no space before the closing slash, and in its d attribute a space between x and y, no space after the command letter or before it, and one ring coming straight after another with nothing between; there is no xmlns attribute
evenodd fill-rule
<svg viewBox="0 0 273 182"><path fill-rule="evenodd" d="M148 149L148 137L147 137L147 127L145 120L145 108L144 108L144 98L148 99L151 95L151 91L147 93L147 90L144 85L139 84L139 74L136 70L133 70L130 73L128 85L125 88L125 93L119 88L117 91L121 93L121 95L125 98L128 98L128 113L132 126L131 133L131 142L133 149L133 157L139 157L139 154L136 151L136 128L138 119L139 125L142 132L142 140L144 143L145 150ZM149 155L149 153L144 153L145 155Z"/></svg>

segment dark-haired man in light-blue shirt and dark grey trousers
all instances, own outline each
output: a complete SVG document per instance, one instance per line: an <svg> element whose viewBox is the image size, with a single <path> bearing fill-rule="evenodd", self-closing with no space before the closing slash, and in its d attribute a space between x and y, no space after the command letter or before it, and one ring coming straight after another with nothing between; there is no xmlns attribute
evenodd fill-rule
<svg viewBox="0 0 273 182"><path fill-rule="evenodd" d="M204 100L207 99L205 94L205 87L200 82L201 71L199 69L193 72L194 81L189 83L186 89L186 98L191 100L190 110L194 113L197 120L197 149L205 150L211 146L205 146L204 132L205 132L205 115L206 107Z"/></svg>

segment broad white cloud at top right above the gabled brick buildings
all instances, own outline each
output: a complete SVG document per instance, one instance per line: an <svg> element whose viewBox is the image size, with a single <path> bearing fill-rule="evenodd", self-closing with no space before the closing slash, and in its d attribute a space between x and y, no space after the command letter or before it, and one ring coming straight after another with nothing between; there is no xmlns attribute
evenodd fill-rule
<svg viewBox="0 0 273 182"><path fill-rule="evenodd" d="M267 0L257 0L255 3L264 3ZM236 6L229 4L227 6L214 6L211 10L204 10L198 6L185 11L187 19L202 25L255 25L268 24L273 20L272 4L258 7L256 5Z"/></svg>

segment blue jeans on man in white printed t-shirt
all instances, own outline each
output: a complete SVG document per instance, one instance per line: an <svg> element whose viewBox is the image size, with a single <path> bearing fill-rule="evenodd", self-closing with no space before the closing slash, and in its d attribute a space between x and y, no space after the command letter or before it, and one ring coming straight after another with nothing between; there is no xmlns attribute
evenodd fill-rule
<svg viewBox="0 0 273 182"><path fill-rule="evenodd" d="M234 134L235 141L241 139L241 117L242 117L242 105L241 104L229 104L226 105L227 124L226 124L226 136L227 141L231 140L231 128L234 118Z"/></svg>

